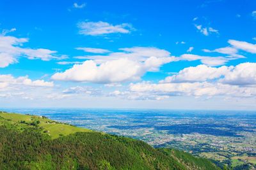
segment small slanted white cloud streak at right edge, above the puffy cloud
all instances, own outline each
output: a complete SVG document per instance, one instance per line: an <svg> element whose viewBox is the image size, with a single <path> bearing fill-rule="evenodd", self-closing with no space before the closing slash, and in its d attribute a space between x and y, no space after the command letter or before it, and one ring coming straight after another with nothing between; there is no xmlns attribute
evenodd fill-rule
<svg viewBox="0 0 256 170"><path fill-rule="evenodd" d="M237 41L234 39L229 39L228 43L230 43L230 45L234 46L234 48L237 48L239 50L244 50L250 53L256 53L256 45L247 43L246 41Z"/></svg>

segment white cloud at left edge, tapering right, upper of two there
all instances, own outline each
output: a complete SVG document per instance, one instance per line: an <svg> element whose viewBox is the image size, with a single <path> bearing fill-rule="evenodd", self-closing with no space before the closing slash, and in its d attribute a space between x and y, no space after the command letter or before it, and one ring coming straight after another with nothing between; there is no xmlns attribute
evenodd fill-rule
<svg viewBox="0 0 256 170"><path fill-rule="evenodd" d="M13 36L0 36L0 67L7 67L9 64L18 62L19 57L28 59L64 59L66 56L56 55L56 51L45 48L31 49L22 48L23 43L28 42L27 38L15 38Z"/></svg>

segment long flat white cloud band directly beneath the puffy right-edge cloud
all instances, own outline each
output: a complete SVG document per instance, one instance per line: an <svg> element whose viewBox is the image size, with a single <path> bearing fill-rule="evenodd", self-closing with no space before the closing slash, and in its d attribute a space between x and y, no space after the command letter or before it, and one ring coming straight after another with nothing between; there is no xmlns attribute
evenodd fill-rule
<svg viewBox="0 0 256 170"><path fill-rule="evenodd" d="M255 97L255 87L239 87L222 83L136 83L130 85L131 92L153 96L194 96L194 97Z"/></svg>

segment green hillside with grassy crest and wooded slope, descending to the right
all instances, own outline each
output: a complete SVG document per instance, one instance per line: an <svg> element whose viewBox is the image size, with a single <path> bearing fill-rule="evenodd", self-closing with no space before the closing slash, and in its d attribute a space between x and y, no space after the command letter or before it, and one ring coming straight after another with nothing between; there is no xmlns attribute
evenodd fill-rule
<svg viewBox="0 0 256 170"><path fill-rule="evenodd" d="M143 141L0 112L0 169L218 169L211 161Z"/></svg>

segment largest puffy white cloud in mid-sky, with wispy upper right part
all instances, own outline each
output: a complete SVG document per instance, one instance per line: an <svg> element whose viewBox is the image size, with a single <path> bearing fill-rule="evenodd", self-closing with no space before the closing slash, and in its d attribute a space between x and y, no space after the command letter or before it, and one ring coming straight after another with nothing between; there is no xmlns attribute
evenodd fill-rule
<svg viewBox="0 0 256 170"><path fill-rule="evenodd" d="M153 47L120 48L123 52L109 55L86 56L83 64L75 64L63 73L52 75L52 80L116 83L137 81L147 71L158 71L174 57L170 52Z"/></svg>

